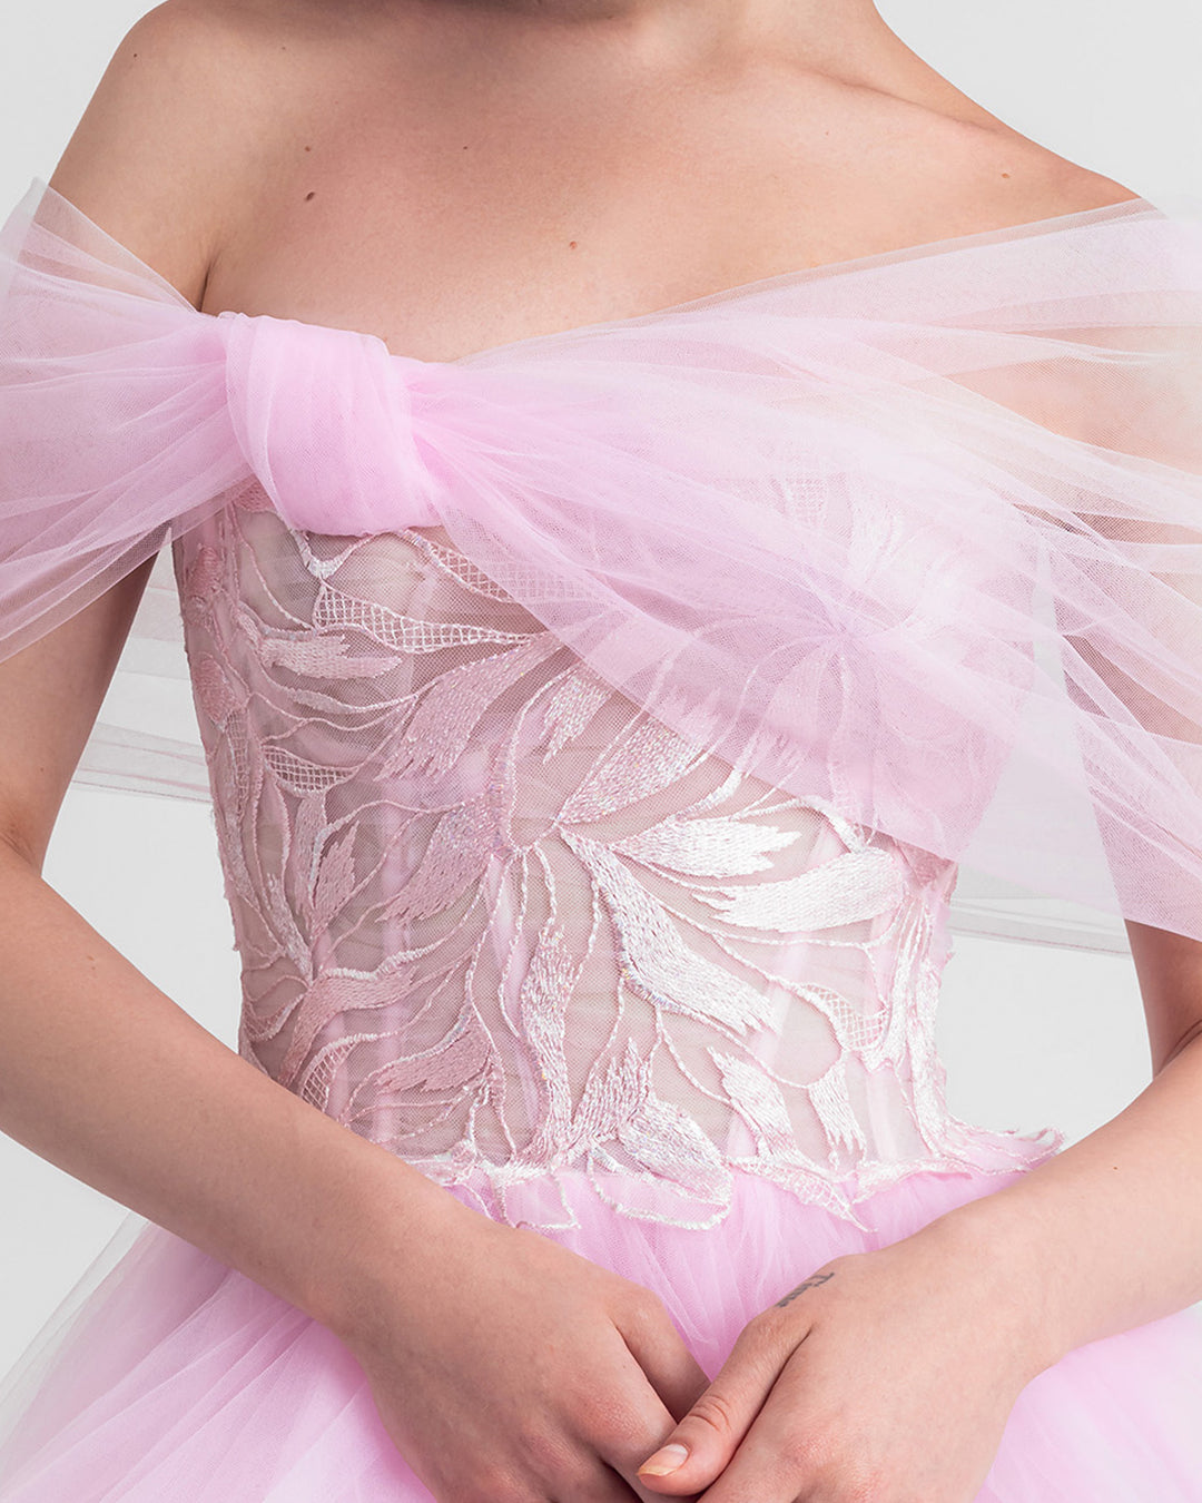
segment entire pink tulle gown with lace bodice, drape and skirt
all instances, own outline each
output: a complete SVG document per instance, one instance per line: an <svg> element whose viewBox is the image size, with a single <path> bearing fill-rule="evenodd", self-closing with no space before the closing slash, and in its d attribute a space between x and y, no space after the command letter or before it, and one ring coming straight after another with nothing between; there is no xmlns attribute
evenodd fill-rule
<svg viewBox="0 0 1202 1503"><path fill-rule="evenodd" d="M948 1111L948 914L968 863L1199 936L1188 215L455 362L200 314L45 185L3 249L5 640L170 537L246 1060L654 1290L711 1377L1058 1151ZM137 1219L86 1285L2 1503L430 1498L261 1285ZM1199 1414L1197 1311L1076 1348L977 1503L1197 1503Z"/></svg>

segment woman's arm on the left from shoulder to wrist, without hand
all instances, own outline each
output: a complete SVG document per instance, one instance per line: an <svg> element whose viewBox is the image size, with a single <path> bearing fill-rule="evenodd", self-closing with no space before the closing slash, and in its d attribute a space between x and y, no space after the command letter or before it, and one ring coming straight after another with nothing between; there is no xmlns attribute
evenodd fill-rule
<svg viewBox="0 0 1202 1503"><path fill-rule="evenodd" d="M251 150L237 45L188 8L152 12L53 179L189 296ZM368 1223L400 1257L415 1228L430 1237L464 1208L239 1058L41 876L149 570L0 663L0 1130L341 1320Z"/></svg>

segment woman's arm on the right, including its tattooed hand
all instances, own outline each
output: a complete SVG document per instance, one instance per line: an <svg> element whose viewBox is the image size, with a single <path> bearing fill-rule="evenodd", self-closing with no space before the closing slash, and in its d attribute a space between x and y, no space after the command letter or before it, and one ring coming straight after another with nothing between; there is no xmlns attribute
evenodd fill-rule
<svg viewBox="0 0 1202 1503"><path fill-rule="evenodd" d="M1026 1383L1202 1299L1202 944L1128 929L1151 1084L1004 1189L802 1270L669 1437L684 1459L648 1458L649 1486L962 1503Z"/></svg>

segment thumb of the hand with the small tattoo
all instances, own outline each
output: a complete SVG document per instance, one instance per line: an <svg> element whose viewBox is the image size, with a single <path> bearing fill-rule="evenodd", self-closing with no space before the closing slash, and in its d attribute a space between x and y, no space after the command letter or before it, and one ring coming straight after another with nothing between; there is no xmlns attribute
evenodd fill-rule
<svg viewBox="0 0 1202 1503"><path fill-rule="evenodd" d="M708 1488L760 1413L786 1356L780 1341L744 1327L718 1375L642 1464L639 1480L660 1495Z"/></svg>

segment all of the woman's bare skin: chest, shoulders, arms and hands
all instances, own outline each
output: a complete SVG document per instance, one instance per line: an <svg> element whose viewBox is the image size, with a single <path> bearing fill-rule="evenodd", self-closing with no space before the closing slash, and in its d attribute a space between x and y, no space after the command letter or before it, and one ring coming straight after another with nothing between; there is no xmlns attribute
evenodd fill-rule
<svg viewBox="0 0 1202 1503"><path fill-rule="evenodd" d="M1133 197L868 0L168 0L51 180L206 311L424 359ZM0 1127L326 1321L440 1503L968 1503L1031 1375L1202 1297L1202 947L1143 930L1152 1087L987 1205L799 1267L708 1384L654 1296L257 1073L42 881L144 577L0 664ZM685 1467L637 1476L670 1435Z"/></svg>

